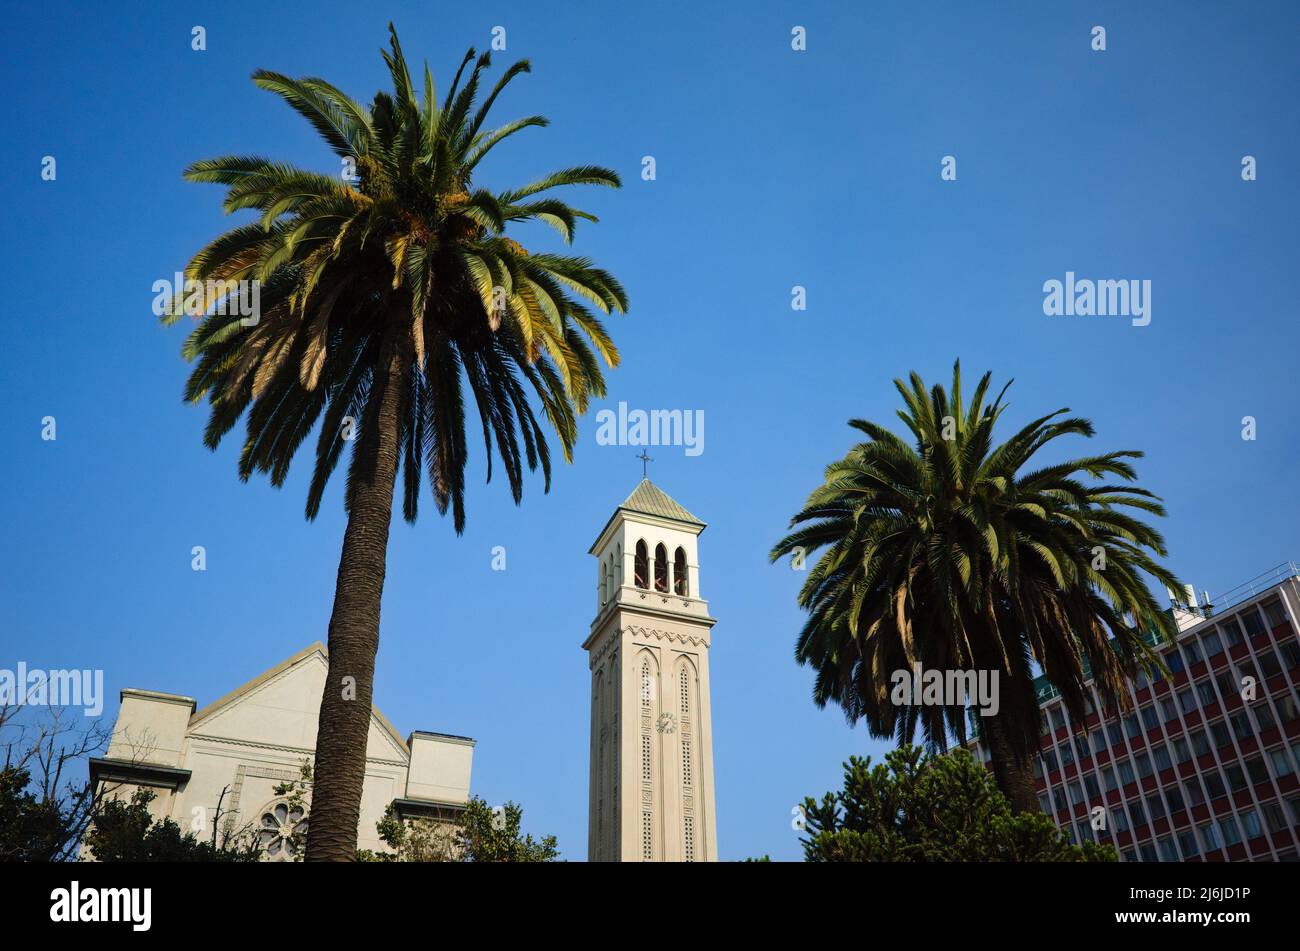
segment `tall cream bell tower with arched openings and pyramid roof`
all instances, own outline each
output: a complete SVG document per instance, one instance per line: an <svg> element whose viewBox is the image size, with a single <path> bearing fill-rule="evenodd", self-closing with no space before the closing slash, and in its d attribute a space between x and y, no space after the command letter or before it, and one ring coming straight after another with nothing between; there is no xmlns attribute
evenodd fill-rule
<svg viewBox="0 0 1300 951"><path fill-rule="evenodd" d="M590 861L716 861L705 524L649 478L592 546Z"/></svg>

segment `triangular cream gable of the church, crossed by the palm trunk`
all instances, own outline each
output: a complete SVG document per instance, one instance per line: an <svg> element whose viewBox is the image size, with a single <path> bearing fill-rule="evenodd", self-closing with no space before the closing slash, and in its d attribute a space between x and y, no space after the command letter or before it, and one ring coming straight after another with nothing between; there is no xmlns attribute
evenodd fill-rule
<svg viewBox="0 0 1300 951"><path fill-rule="evenodd" d="M299 651L190 718L191 737L313 751L329 661L320 642ZM406 764L406 743L372 708L367 757Z"/></svg>

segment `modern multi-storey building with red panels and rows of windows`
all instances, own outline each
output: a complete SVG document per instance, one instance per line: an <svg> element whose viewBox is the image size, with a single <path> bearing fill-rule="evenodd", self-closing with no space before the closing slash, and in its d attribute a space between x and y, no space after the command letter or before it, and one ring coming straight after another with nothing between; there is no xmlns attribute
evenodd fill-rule
<svg viewBox="0 0 1300 951"><path fill-rule="evenodd" d="M1279 565L1216 604L1188 591L1170 609L1179 635L1161 655L1173 676L1130 683L1130 712L1105 711L1092 691L1086 731L1039 678L1043 811L1123 861L1295 861L1300 568Z"/></svg>

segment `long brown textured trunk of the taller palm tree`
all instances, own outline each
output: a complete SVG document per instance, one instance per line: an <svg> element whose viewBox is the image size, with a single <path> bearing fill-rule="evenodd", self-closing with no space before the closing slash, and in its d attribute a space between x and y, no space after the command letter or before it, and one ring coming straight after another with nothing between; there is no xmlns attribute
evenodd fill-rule
<svg viewBox="0 0 1300 951"><path fill-rule="evenodd" d="M370 729L374 655L380 648L393 487L398 470L398 403L402 359L389 336L355 452L373 459L348 485L347 531L329 620L329 673L316 731L316 768L307 861L354 861L365 780L365 738ZM368 446L365 440L372 443Z"/></svg>

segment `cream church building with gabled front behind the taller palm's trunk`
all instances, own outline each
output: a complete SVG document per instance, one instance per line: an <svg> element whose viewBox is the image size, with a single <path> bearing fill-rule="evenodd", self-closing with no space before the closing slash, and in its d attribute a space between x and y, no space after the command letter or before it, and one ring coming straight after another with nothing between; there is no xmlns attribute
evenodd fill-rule
<svg viewBox="0 0 1300 951"><path fill-rule="evenodd" d="M91 781L121 798L151 789L155 818L199 838L216 822L218 833L257 835L268 860L299 857L292 833L309 817L276 786L300 780L316 757L326 659L324 644L311 644L202 709L188 696L124 690L108 752L90 761ZM374 828L389 803L403 817L454 820L469 800L473 751L468 737L416 730L403 739L372 707L358 848L389 851Z"/></svg>

